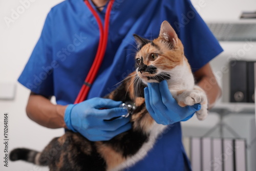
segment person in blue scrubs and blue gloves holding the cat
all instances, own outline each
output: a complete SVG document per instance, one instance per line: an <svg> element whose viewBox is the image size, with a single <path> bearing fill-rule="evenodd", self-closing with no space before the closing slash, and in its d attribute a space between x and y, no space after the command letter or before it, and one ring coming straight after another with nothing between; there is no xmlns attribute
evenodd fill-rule
<svg viewBox="0 0 256 171"><path fill-rule="evenodd" d="M110 1L89 0L87 3L98 14L103 27L108 26L108 34L104 30L100 33L95 15L82 0L67 0L51 9L18 78L31 90L26 109L29 118L53 129L65 127L79 132L91 141L109 140L131 129L130 118L120 117L105 125L103 119L121 116L127 111L118 108L121 102L100 97L112 92L116 84L134 70L133 34L154 39L163 20L174 27L197 84L206 91L209 107L214 105L221 90L209 61L223 50L189 0L116 0L109 20L104 17ZM104 35L107 37L105 51L103 44L98 49ZM104 53L103 61L94 81L84 82L97 51ZM83 85L90 91L84 101L74 105ZM131 171L190 169L181 141L180 121L189 119L196 110L162 116L161 110L172 111L176 102L154 101L162 98L159 90L171 96L163 83L150 84L145 92L146 108L158 123L168 124L169 129L143 160L129 168ZM50 102L52 96L56 97L56 105ZM106 109L99 110L101 108Z"/></svg>

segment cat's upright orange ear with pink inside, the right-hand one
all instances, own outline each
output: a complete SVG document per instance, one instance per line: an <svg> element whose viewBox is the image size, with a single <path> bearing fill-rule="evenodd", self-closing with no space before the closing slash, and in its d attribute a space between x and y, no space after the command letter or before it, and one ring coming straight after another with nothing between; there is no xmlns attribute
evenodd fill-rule
<svg viewBox="0 0 256 171"><path fill-rule="evenodd" d="M167 21L163 21L163 23L161 24L159 36L162 37L164 40L172 43L173 45L177 45L178 43L178 36L173 27L170 26Z"/></svg>

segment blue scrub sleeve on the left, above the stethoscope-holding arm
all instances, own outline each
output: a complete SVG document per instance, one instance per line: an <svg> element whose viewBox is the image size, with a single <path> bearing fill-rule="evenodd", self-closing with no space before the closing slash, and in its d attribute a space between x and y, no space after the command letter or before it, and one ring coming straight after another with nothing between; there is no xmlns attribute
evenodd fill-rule
<svg viewBox="0 0 256 171"><path fill-rule="evenodd" d="M18 81L36 94L53 95L53 69L57 62L52 57L51 16L48 14L40 38Z"/></svg>

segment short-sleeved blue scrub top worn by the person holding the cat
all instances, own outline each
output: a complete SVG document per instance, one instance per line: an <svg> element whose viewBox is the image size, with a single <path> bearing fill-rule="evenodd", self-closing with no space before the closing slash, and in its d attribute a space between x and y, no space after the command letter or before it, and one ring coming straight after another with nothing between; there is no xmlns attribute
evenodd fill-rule
<svg viewBox="0 0 256 171"><path fill-rule="evenodd" d="M102 23L105 11L98 12ZM110 93L134 71L133 34L154 39L163 20L176 30L194 71L223 51L189 0L116 0L106 53L88 99ZM84 2L64 1L49 12L18 81L34 93L55 96L58 104L73 103L90 70L98 41L98 25ZM152 151L129 170L184 170L184 162L178 122L170 125Z"/></svg>

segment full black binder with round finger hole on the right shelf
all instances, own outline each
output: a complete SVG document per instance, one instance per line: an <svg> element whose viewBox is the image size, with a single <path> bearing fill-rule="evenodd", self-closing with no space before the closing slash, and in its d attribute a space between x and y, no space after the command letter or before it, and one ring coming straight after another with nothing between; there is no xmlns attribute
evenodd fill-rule
<svg viewBox="0 0 256 171"><path fill-rule="evenodd" d="M230 69L230 102L247 102L247 62L232 60Z"/></svg>

